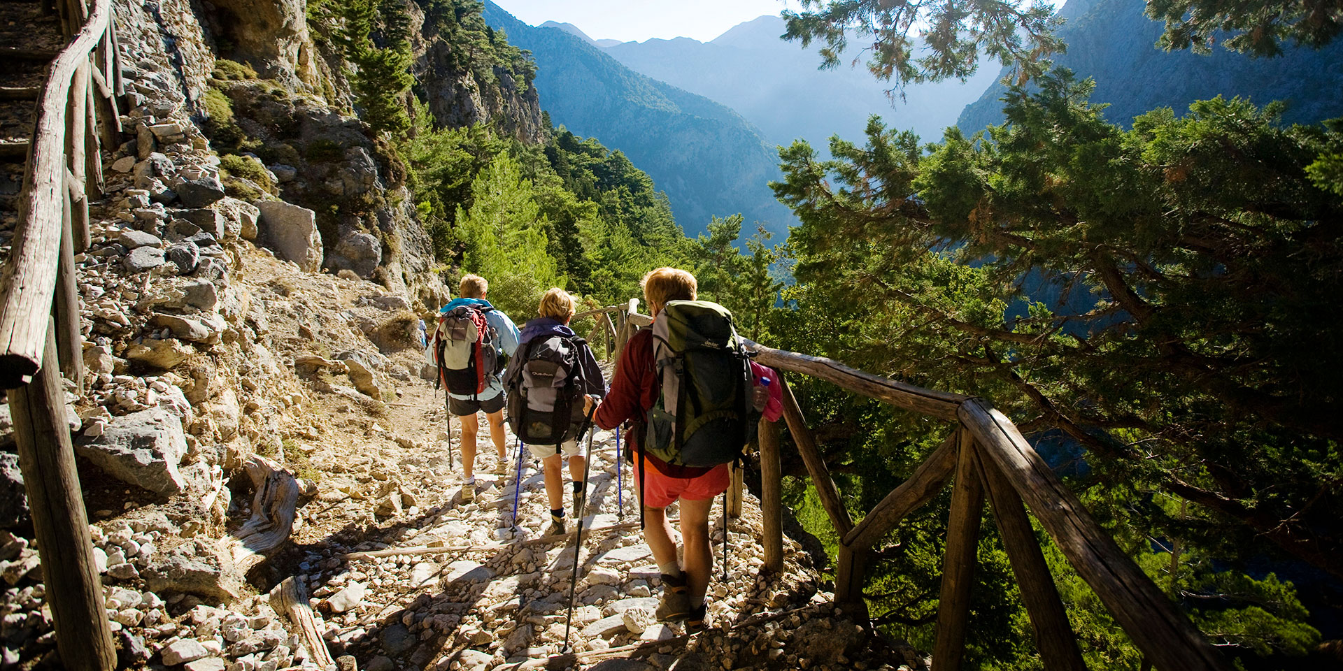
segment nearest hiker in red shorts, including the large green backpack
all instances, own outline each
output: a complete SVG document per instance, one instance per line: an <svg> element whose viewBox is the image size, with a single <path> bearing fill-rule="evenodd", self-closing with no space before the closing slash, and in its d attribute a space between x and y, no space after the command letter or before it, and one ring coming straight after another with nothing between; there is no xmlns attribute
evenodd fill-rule
<svg viewBox="0 0 1343 671"><path fill-rule="evenodd" d="M731 484L729 464L741 458L779 385L770 389L768 374L753 372L732 314L696 301L694 275L662 267L645 275L642 287L653 326L626 344L594 421L603 429L634 424L629 444L643 535L662 574L655 615L696 632L705 627L704 595L713 570L709 509ZM592 404L590 399L586 405ZM666 507L677 501L685 566L666 518Z"/></svg>

